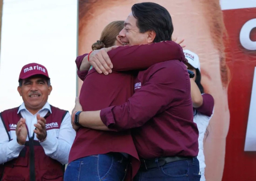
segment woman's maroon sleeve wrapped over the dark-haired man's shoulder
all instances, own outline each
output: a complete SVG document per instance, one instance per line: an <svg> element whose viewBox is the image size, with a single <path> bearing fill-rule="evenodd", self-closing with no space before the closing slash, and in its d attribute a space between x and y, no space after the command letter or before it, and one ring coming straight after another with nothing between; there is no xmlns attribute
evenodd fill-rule
<svg viewBox="0 0 256 181"><path fill-rule="evenodd" d="M183 49L174 41L141 44L135 46L120 46L108 52L116 71L144 70L156 63L168 60L187 62Z"/></svg>

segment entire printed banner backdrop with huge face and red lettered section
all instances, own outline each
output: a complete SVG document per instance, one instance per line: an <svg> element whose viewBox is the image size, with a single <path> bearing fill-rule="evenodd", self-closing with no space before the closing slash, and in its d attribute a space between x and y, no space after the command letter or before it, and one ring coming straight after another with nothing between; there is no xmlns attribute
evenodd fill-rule
<svg viewBox="0 0 256 181"><path fill-rule="evenodd" d="M125 20L132 5L139 2L149 0L80 0L78 55L90 52L103 28L114 20ZM256 97L252 94L256 90L252 92L252 82L256 67L256 1L150 2L167 8L173 19L173 37L185 38L185 49L199 55L202 85L215 100L204 143L206 180L255 180Z"/></svg>

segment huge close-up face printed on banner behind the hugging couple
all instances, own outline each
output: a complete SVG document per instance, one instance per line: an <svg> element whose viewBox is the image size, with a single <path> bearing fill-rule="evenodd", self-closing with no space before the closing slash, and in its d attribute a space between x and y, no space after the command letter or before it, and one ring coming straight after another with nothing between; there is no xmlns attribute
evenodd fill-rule
<svg viewBox="0 0 256 181"><path fill-rule="evenodd" d="M133 4L147 1L80 1L78 54L91 51L91 45L100 38L103 28L114 20L125 20ZM151 1L153 2L153 1ZM225 141L229 127L229 108L226 85L225 54L223 53L223 19L219 1L158 0L173 19L173 37L185 38L185 49L199 55L202 85L205 93L215 100L214 115L205 140L206 177L222 178ZM81 82L80 82L81 84ZM218 158L218 159L216 159Z"/></svg>

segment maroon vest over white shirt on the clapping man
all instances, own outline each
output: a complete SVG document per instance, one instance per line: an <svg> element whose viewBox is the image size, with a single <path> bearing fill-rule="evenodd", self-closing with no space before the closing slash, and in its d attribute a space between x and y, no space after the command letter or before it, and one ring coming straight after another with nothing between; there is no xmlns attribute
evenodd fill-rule
<svg viewBox="0 0 256 181"><path fill-rule="evenodd" d="M12 138L9 132L15 131L16 124L21 118L21 115L17 114L18 109L8 109L0 114L10 141ZM60 124L68 111L51 106L51 112L48 112L45 116L48 124L46 131L60 129ZM26 141L25 147L19 153L18 158L5 162L0 166L0 179L2 174L2 180L59 181L63 180L64 168L65 165L45 155L43 147L40 146L38 141L30 138L29 141Z"/></svg>

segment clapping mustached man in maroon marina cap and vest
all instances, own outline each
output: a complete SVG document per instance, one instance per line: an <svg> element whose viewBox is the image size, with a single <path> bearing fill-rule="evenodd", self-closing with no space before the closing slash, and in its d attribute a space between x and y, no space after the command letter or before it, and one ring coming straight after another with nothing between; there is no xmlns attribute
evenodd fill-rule
<svg viewBox="0 0 256 181"><path fill-rule="evenodd" d="M75 131L68 111L47 102L51 90L44 66L22 67L24 102L0 113L0 180L63 180Z"/></svg>

